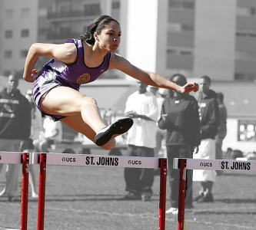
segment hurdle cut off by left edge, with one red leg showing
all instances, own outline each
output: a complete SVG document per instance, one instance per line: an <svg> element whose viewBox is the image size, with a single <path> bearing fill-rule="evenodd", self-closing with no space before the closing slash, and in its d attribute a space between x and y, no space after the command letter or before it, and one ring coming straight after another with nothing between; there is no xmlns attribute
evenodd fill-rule
<svg viewBox="0 0 256 230"><path fill-rule="evenodd" d="M20 228L28 228L28 164L29 153L0 152L1 164L22 164ZM18 183L18 182L17 182Z"/></svg>

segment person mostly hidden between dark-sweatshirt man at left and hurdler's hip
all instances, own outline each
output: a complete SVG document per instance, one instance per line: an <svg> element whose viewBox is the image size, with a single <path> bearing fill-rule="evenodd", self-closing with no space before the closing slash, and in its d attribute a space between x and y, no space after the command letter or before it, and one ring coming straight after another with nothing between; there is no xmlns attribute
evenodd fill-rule
<svg viewBox="0 0 256 230"><path fill-rule="evenodd" d="M28 99L29 104L31 106L31 114L32 114L32 126L31 126L31 135L28 141L28 149L23 149L24 152L32 153L35 151L35 146L33 142L38 140L40 133L43 131L42 127L42 113L37 110L35 107L35 103L33 101L33 90L28 89L26 91L25 97ZM32 198L38 198L38 192L36 192L36 176L35 169L32 164L28 166L29 170L29 184L31 186Z"/></svg>

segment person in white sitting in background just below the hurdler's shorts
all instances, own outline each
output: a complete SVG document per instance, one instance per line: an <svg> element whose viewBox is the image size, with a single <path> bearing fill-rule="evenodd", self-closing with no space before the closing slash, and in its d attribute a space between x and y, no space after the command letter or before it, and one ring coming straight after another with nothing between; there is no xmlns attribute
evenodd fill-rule
<svg viewBox="0 0 256 230"><path fill-rule="evenodd" d="M35 149L41 153L48 153L52 144L62 142L62 123L54 121L51 117L45 116L43 121L44 131L41 137L33 142Z"/></svg>

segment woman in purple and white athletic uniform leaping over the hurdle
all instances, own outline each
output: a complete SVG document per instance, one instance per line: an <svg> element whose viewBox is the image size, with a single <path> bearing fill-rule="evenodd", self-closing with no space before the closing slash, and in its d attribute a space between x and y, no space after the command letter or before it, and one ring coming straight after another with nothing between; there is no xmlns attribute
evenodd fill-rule
<svg viewBox="0 0 256 230"><path fill-rule="evenodd" d="M181 87L159 74L135 67L116 53L120 42L119 22L111 16L100 15L78 39L68 39L64 44L32 44L23 74L25 81L35 82L33 93L38 110L54 120L61 120L106 150L115 147L115 137L126 133L133 120L125 117L108 126L102 120L95 99L79 91L81 84L95 81L105 71L117 69L154 87L185 94L198 91L196 83ZM38 71L34 67L41 56L51 61Z"/></svg>

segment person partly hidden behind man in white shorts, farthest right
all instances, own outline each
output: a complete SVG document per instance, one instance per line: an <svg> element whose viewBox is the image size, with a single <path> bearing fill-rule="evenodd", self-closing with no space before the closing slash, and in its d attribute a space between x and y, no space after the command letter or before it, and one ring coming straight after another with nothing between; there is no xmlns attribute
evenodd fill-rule
<svg viewBox="0 0 256 230"><path fill-rule="evenodd" d="M228 118L227 108L224 105L224 94L222 94L221 92L218 92L217 101L218 101L220 123L218 126L218 133L215 136L216 159L223 159L222 142L225 136L227 135L227 118ZM217 172L217 175L221 175L224 171L217 170L216 172Z"/></svg>

